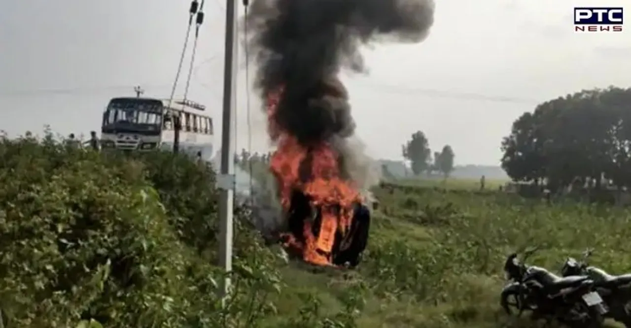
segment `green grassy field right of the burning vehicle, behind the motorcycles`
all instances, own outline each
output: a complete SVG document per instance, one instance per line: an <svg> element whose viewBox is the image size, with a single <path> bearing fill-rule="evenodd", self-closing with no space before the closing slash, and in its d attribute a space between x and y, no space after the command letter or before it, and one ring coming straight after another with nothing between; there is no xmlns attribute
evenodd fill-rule
<svg viewBox="0 0 631 328"><path fill-rule="evenodd" d="M374 215L370 254L358 272L283 268L287 288L276 300L280 317L300 309L303 291L317 295L322 311L336 312L344 306L341 284L355 279L365 284L358 327L536 327L506 318L498 307L510 251L543 247L529 262L558 272L565 257L596 247L593 264L612 273L631 271L626 209L548 205L413 184L380 187L375 194L382 208Z"/></svg>

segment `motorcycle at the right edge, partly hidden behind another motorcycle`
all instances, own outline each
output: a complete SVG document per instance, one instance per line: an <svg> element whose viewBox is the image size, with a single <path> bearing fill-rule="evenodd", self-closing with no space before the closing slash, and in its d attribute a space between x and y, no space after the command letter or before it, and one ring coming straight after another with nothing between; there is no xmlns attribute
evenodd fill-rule
<svg viewBox="0 0 631 328"><path fill-rule="evenodd" d="M598 294L610 308L606 317L621 322L631 328L631 274L613 276L599 267L589 266L587 259L593 249L583 252L581 261L568 257L563 264L561 274L569 276L587 276L594 281Z"/></svg>

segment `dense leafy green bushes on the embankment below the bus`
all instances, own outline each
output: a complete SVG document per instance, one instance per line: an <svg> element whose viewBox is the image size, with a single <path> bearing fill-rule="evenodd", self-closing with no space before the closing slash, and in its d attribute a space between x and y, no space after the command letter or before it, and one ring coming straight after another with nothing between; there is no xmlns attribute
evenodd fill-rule
<svg viewBox="0 0 631 328"><path fill-rule="evenodd" d="M212 168L186 156L101 154L50 134L2 138L6 327L66 328L90 319L105 327L253 326L273 310L266 295L280 288L274 254L237 222L237 289L220 308L214 291L222 273L209 264L214 179ZM257 307L247 307L254 300Z"/></svg>

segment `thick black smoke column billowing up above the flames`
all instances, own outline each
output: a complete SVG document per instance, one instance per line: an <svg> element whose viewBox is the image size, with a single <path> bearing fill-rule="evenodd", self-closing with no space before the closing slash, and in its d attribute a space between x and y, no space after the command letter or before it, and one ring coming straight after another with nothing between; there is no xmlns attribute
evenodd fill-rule
<svg viewBox="0 0 631 328"><path fill-rule="evenodd" d="M348 143L355 122L338 74L365 72L362 45L421 42L433 11L432 0L254 0L245 21L254 87L265 99L283 86L275 123L305 147L333 144L343 174L363 185L366 178L353 174L362 160Z"/></svg>

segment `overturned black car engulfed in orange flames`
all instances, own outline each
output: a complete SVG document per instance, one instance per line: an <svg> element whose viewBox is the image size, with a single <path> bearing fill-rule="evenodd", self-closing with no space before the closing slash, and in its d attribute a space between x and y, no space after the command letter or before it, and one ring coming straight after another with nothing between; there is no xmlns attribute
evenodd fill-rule
<svg viewBox="0 0 631 328"><path fill-rule="evenodd" d="M281 242L310 264L355 267L368 242L370 210L353 182L343 179L330 143L307 147L273 124L279 93L268 98L268 117L278 144L269 166L288 230Z"/></svg>

